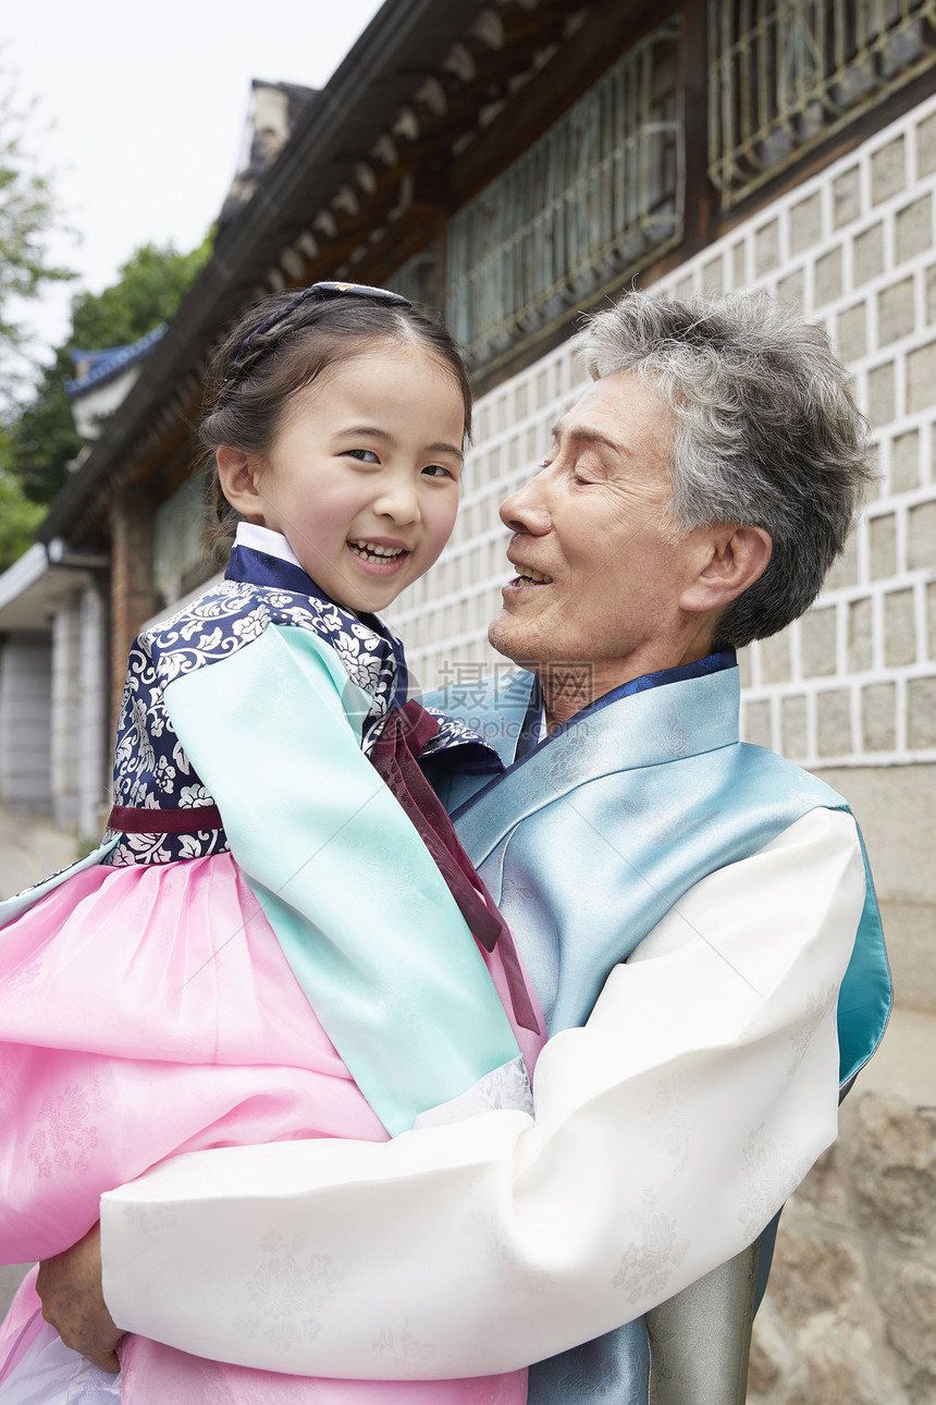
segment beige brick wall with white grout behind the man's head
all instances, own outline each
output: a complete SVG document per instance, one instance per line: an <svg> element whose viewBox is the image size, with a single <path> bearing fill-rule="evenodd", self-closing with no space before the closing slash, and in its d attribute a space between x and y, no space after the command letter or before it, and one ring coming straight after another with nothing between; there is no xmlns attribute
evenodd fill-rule
<svg viewBox="0 0 936 1405"><path fill-rule="evenodd" d="M855 372L881 482L807 617L745 651L749 740L807 766L936 760L936 98L662 280L761 287L822 322ZM393 622L425 687L504 665L486 642L507 579L500 502L585 381L568 347L476 409L460 520Z"/></svg>

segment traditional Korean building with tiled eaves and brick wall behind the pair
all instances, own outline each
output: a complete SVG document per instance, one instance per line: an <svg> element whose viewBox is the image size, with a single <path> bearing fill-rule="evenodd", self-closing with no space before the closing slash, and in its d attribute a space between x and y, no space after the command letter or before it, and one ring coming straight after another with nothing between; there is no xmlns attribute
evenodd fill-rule
<svg viewBox="0 0 936 1405"><path fill-rule="evenodd" d="M933 0L386 0L326 89L297 90L285 138L248 185L41 532L63 559L109 559L101 812L128 646L206 575L192 476L199 382L253 299L316 278L385 284L439 308L467 350L477 416L459 525L393 613L431 686L498 666L486 642L505 579L497 507L584 384L568 350L580 315L631 284L766 288L828 327L880 481L814 610L745 651L744 731L852 799L891 943L894 1047L932 1054ZM7 628L1 592L3 579ZM4 676L6 665L0 707ZM932 1086L907 1078L894 1075L894 1107L874 1104L884 1132L870 1169L849 1180L832 1166L803 1201L803 1236L829 1248L848 1205L860 1245L820 1255L813 1309L780 1260L758 1399L901 1405L936 1392L936 1363L914 1345L926 1336L919 1304L936 1300L923 1172L907 1172L904 1218L873 1211L887 1176L902 1175L880 1151L887 1118L897 1127L923 1092L932 1100ZM859 1142L864 1132L856 1121ZM923 1135L894 1132L894 1145L911 1132ZM916 1328L900 1325L897 1302ZM848 1349L818 1331L821 1312ZM838 1371L839 1394L824 1371Z"/></svg>

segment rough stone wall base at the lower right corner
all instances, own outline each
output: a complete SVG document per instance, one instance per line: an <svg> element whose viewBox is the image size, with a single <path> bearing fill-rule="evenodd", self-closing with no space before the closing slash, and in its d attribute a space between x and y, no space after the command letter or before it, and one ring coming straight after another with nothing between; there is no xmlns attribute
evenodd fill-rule
<svg viewBox="0 0 936 1405"><path fill-rule="evenodd" d="M936 1402L936 1021L898 1010L787 1204L749 1405Z"/></svg>

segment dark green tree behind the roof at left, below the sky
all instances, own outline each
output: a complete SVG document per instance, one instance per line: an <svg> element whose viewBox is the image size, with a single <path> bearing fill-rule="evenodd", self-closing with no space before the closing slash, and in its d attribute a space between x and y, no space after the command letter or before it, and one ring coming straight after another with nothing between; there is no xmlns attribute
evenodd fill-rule
<svg viewBox="0 0 936 1405"><path fill-rule="evenodd" d="M52 502L67 461L83 444L65 391L66 381L74 377L70 353L129 346L168 322L208 259L212 237L209 232L187 254L171 243L143 244L122 266L112 287L74 295L69 337L10 424L11 469L29 500Z"/></svg>

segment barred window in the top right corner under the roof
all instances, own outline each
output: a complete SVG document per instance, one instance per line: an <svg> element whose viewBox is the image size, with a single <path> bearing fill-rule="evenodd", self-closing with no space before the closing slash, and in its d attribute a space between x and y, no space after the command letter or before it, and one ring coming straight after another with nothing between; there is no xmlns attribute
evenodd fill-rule
<svg viewBox="0 0 936 1405"><path fill-rule="evenodd" d="M936 0L709 0L709 176L723 207L936 63Z"/></svg>

